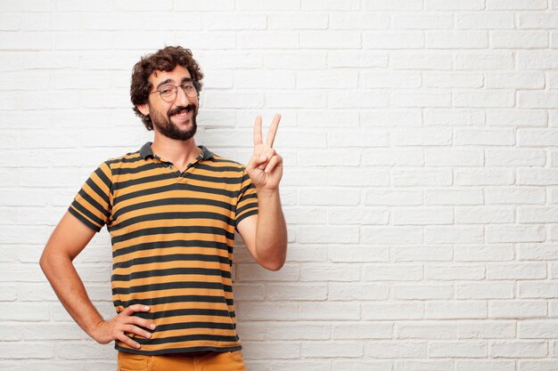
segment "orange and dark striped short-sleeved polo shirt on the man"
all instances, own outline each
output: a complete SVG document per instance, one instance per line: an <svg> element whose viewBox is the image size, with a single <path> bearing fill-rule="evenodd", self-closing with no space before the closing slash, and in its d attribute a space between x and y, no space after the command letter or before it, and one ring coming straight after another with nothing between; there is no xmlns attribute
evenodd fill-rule
<svg viewBox="0 0 558 371"><path fill-rule="evenodd" d="M140 303L137 316L157 328L139 350L146 355L237 351L231 277L234 230L258 214L256 189L244 166L201 146L184 173L153 154L151 142L103 162L69 211L112 242L112 301L117 312Z"/></svg>

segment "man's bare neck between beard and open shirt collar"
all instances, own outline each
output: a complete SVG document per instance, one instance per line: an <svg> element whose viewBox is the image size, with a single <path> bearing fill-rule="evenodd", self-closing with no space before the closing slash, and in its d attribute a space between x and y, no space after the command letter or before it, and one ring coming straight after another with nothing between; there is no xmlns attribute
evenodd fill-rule
<svg viewBox="0 0 558 371"><path fill-rule="evenodd" d="M158 133L156 130L152 142L152 151L155 155L172 162L178 168L184 168L201 153L201 149L196 146L193 138L187 141L177 141Z"/></svg>

